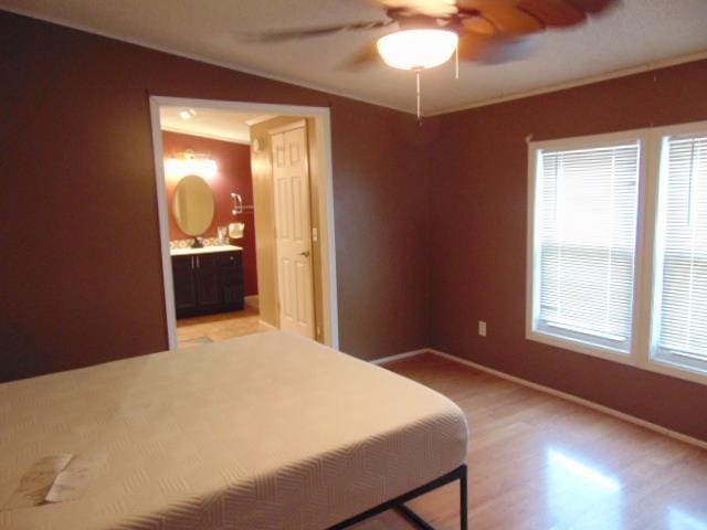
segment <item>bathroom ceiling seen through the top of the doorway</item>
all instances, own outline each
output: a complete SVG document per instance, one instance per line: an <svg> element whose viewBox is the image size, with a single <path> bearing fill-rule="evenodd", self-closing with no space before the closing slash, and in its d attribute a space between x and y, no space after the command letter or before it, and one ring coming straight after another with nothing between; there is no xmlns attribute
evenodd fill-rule
<svg viewBox="0 0 707 530"><path fill-rule="evenodd" d="M189 119L181 117L183 110L193 110ZM249 124L273 117L274 115L234 113L200 107L161 107L159 110L162 130L235 144L250 144Z"/></svg>

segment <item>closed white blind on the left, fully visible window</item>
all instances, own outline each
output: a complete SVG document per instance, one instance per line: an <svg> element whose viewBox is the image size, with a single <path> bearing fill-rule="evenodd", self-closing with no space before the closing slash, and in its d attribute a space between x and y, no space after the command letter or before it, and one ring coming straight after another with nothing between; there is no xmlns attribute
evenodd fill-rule
<svg viewBox="0 0 707 530"><path fill-rule="evenodd" d="M640 166L637 139L538 151L536 331L631 350Z"/></svg>

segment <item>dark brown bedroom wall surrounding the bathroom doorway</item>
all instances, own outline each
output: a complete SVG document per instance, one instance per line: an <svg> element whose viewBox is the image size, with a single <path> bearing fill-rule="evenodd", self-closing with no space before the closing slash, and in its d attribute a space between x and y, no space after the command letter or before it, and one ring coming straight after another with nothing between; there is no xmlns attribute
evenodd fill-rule
<svg viewBox="0 0 707 530"><path fill-rule="evenodd" d="M428 343L412 116L0 13L0 380L167 347L148 97L331 113L341 349Z"/></svg>

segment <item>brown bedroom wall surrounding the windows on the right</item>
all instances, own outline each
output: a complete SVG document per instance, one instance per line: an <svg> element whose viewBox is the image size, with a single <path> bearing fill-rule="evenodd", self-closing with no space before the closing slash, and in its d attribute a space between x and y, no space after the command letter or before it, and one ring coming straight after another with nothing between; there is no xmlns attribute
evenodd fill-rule
<svg viewBox="0 0 707 530"><path fill-rule="evenodd" d="M436 118L432 346L707 439L707 385L525 339L526 136L707 119L706 86L701 61Z"/></svg>

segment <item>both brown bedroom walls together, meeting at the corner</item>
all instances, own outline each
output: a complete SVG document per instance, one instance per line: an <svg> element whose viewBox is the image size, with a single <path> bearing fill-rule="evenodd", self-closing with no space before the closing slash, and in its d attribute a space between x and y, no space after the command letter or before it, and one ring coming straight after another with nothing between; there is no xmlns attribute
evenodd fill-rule
<svg viewBox="0 0 707 530"><path fill-rule="evenodd" d="M707 439L707 386L524 338L526 136L707 119L707 62L416 127L384 108L12 14L0 14L0 35L10 102L0 380L166 347L149 94L319 105L331 109L345 351L372 359L431 344Z"/></svg>

